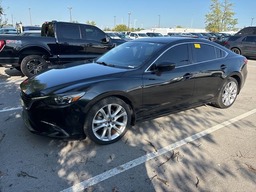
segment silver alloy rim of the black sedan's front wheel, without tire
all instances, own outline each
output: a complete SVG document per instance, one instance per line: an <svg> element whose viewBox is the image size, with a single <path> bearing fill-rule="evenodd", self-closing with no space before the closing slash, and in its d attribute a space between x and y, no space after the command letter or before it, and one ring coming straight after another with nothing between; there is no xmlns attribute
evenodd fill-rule
<svg viewBox="0 0 256 192"><path fill-rule="evenodd" d="M126 110L118 104L108 104L96 112L92 120L92 131L102 141L114 140L127 125Z"/></svg>

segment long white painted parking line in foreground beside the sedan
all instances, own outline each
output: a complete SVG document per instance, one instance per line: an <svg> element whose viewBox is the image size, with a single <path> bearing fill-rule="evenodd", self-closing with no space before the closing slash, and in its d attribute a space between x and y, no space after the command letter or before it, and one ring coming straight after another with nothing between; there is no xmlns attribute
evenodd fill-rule
<svg viewBox="0 0 256 192"><path fill-rule="evenodd" d="M93 185L95 185L95 184L97 184L97 183L99 183L101 181L104 181L104 180L106 180L106 179L108 179L108 178L110 178L112 176L115 176L115 175L117 175L119 173L122 173L122 172L124 172L126 170L129 170L130 168L133 168L133 167L135 167L137 165L140 165L140 164L142 164L142 163L144 163L144 162L146 162L146 161L148 161L150 159L153 159L153 158L158 157L158 156L160 156L162 154L165 154L166 152L169 152L169 151L171 151L171 150L173 150L173 149L175 149L177 147L180 147L180 146L182 146L182 145L184 145L184 144L186 144L188 142L191 142L193 140L196 140L196 139L198 139L198 138L200 138L202 136L205 136L205 135L207 135L207 134L209 134L211 132L214 132L214 131L216 131L216 130L218 130L220 128L223 128L223 127L225 127L225 126L227 126L229 124L232 124L232 123L234 123L234 122L236 122L238 120L241 120L242 118L245 118L245 117L247 117L249 115L252 115L254 113L256 113L256 109L251 110L249 112L246 112L246 113L244 113L244 114L242 114L240 116L237 116L235 118L232 118L230 120L227 120L227 121L225 121L223 123L220 123L220 124L218 124L216 126L213 126L211 128L208 128L208 129L206 129L206 130L204 130L204 131L202 131L200 133L194 134L194 135L192 135L190 137L187 137L187 138L185 138L183 140L180 140L180 141L178 141L178 142L176 142L174 144L170 144L169 146L166 146L164 148L159 149L158 152L152 152L152 153L144 155L144 156L142 156L140 158L134 159L134 160L132 160L132 161L130 161L128 163L122 164L122 165L120 165L120 166L118 166L116 168L113 168L113 169L108 170L108 171L106 171L106 172L104 172L102 174L99 174L99 175L94 176L94 177L92 177L92 178L90 178L88 180L85 180L85 181L83 181L81 183L78 183L78 184L76 184L76 185L74 185L74 186L72 186L70 188L64 189L61 192L79 192L81 190L84 190L84 189L86 189L89 186L93 186Z"/></svg>

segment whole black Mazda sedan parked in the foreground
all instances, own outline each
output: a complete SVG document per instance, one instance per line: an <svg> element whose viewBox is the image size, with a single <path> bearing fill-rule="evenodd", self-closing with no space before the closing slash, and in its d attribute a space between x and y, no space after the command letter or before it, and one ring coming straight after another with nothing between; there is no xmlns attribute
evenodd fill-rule
<svg viewBox="0 0 256 192"><path fill-rule="evenodd" d="M109 144L136 122L206 103L228 108L246 76L246 58L216 43L136 39L22 82L23 119L35 134Z"/></svg>

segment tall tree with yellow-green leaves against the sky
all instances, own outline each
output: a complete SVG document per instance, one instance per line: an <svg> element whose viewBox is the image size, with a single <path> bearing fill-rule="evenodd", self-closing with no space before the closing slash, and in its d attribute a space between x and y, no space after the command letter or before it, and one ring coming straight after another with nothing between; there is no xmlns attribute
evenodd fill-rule
<svg viewBox="0 0 256 192"><path fill-rule="evenodd" d="M238 24L238 19L234 19L234 4L229 0L211 0L210 11L205 15L206 30L210 32L220 32L234 30Z"/></svg>

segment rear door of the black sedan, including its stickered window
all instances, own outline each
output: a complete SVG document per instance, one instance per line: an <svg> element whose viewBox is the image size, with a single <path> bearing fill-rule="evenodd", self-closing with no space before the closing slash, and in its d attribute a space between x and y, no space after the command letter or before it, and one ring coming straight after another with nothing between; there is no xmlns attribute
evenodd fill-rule
<svg viewBox="0 0 256 192"><path fill-rule="evenodd" d="M192 104L216 96L228 73L226 52L206 43L192 43L193 62L196 70Z"/></svg>

